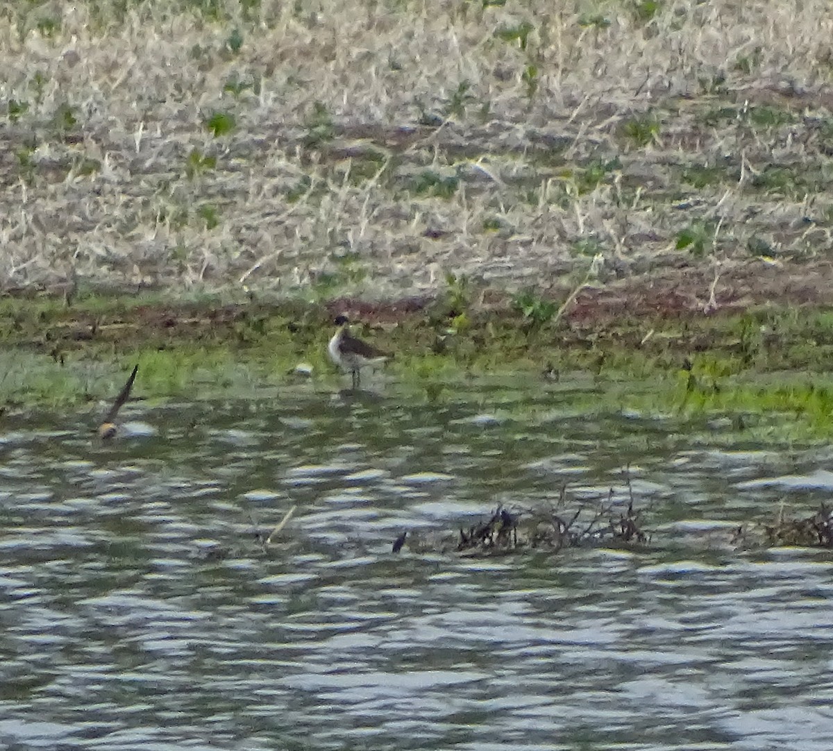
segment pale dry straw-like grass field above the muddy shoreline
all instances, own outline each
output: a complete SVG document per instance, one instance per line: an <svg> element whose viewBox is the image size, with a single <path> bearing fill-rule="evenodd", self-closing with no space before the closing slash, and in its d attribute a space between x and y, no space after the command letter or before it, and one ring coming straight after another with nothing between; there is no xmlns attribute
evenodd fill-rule
<svg viewBox="0 0 833 751"><path fill-rule="evenodd" d="M0 289L546 290L597 254L717 285L830 248L826 0L247 4L0 3Z"/></svg>

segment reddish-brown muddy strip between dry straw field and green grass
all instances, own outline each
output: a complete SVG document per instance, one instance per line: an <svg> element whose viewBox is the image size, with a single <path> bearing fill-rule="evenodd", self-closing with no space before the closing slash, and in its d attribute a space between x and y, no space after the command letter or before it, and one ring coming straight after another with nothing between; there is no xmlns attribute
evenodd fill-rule
<svg viewBox="0 0 833 751"><path fill-rule="evenodd" d="M749 320L776 321L781 316L804 318L833 308L833 262L784 263L681 261L639 276L596 279L567 285L552 283L540 290L526 288L533 305L558 306L556 316L541 315L535 346L588 346L616 336L632 341L648 331L669 328L680 336L668 340L676 351L721 349L731 341L726 321L746 316ZM434 294L394 296L191 296L177 299L167 291L102 288L80 292L77 287L28 286L0 295L0 319L5 319L0 341L5 346L47 346L57 343L108 339L120 346L142 346L160 332L171 336L200 336L212 331L222 339L241 321L282 318L292 330L307 326L327 328L338 313L347 313L359 324L391 330L399 326L435 328L465 315L466 326L501 321L528 334L536 311L524 316L518 293L472 284L465 277L446 282ZM561 310L563 306L563 310ZM680 324L683 324L680 327ZM702 336L712 332L711 345ZM764 331L763 333L766 333Z"/></svg>

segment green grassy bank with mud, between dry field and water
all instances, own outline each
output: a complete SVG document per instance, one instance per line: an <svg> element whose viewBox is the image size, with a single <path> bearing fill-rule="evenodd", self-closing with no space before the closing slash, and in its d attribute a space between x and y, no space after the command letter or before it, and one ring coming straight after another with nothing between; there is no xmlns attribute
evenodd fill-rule
<svg viewBox="0 0 833 751"><path fill-rule="evenodd" d="M554 301L493 294L491 305L453 287L436 299L166 301L79 295L0 301L0 404L100 410L134 363L145 399L271 395L343 381L327 361L336 311L395 354L397 390L442 400L473 378L512 376L518 389L583 384L576 408L729 419L756 440L825 440L831 433L833 314L757 308L692 317L667 313L592 321ZM312 376L294 372L299 363ZM561 398L561 397L560 397Z"/></svg>

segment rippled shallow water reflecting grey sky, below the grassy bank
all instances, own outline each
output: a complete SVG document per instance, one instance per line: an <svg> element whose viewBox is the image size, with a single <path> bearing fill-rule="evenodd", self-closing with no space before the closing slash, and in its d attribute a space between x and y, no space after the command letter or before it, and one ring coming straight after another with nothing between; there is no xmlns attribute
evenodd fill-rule
<svg viewBox="0 0 833 751"><path fill-rule="evenodd" d="M6 420L0 748L828 751L831 557L727 541L828 499L831 451L588 388L133 403L110 444ZM627 467L645 550L391 553L565 483L624 505Z"/></svg>

